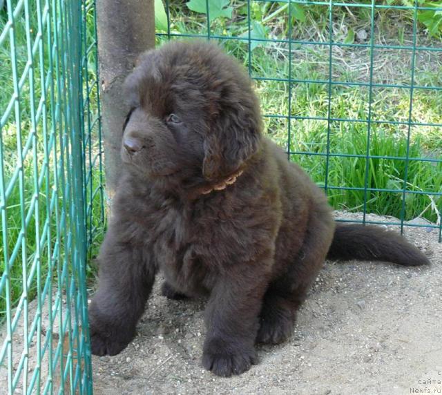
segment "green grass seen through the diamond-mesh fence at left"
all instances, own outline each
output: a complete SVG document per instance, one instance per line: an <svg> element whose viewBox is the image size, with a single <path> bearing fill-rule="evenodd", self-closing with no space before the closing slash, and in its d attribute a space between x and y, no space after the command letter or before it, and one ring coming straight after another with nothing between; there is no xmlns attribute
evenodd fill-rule
<svg viewBox="0 0 442 395"><path fill-rule="evenodd" d="M38 19L36 2L30 2L29 19L24 10L15 22L15 47L17 56L17 75L21 77L28 62L28 47L37 39ZM8 20L6 9L0 10L0 32ZM32 300L41 292L44 286L57 287L60 278L66 278L62 287L68 289L69 278L74 278L73 257L70 240L73 237L75 218L70 212L73 204L70 189L66 182L72 182L70 171L75 163L72 149L66 142L70 137L66 127L68 117L66 113L70 104L64 90L68 89L66 69L61 67L62 54L52 53L49 50L55 43L54 20L48 19L44 26L43 47L41 56L39 50L32 58L34 73L32 78L26 75L23 88L20 92L19 115L20 124L17 127L15 110L12 109L6 121L1 124L1 150L3 155L2 167L5 188L10 186L10 193L6 200L6 229L2 227L2 236L6 235L7 242L0 244L2 257L2 274L6 269L4 262L5 248L10 260L10 291L12 307L17 306L21 296L26 292L28 300ZM59 20L60 21L60 20ZM61 23L61 21L60 21ZM28 25L29 29L26 28ZM48 39L48 26L52 33ZM59 26L59 39L63 26ZM87 15L87 41L85 48L93 42L95 23L93 9ZM49 41L48 41L49 40ZM8 104L14 92L12 79L12 59L10 57L11 44L6 38L0 46L0 116L6 113ZM104 207L102 202L102 177L99 173L100 144L99 122L97 122L97 73L95 70L95 50L84 53L84 145L85 162L84 177L87 185L84 188L86 197L86 222L88 233L86 238L92 246L89 258L97 252L104 233ZM50 62L52 61L52 68ZM57 73L56 61L60 64ZM66 73L66 74L65 74ZM52 84L42 86L42 82L53 81ZM59 82L59 85L58 82ZM87 81L87 86L86 86ZM95 84L95 85L94 85ZM60 90L57 90L59 86ZM46 95L46 100L43 99ZM38 115L33 115L40 108ZM35 119L35 121L34 121ZM18 129L18 130L17 130ZM35 133L32 131L35 130ZM90 133L90 136L89 136ZM61 145L64 142L64 146ZM12 181L19 166L19 152L28 144L29 149L23 155L22 172ZM61 163L63 161L63 164ZM65 181L64 181L65 180ZM64 198L66 196L66 198ZM25 237L20 241L21 233ZM3 239L3 237L2 237ZM88 266L88 275L93 274L92 267ZM65 274L63 274L65 273ZM67 273L67 274L66 274ZM28 286L23 284L28 283ZM61 291L61 290L60 290ZM6 316L6 287L0 291L0 322Z"/></svg>

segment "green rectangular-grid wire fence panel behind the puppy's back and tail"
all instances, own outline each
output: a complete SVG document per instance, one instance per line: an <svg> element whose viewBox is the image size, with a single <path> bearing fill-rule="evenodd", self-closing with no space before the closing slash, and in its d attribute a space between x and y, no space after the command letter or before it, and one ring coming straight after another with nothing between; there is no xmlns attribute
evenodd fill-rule
<svg viewBox="0 0 442 395"><path fill-rule="evenodd" d="M204 37L256 82L266 133L336 208L441 241L442 4L155 1L157 43ZM342 221L347 221L343 217Z"/></svg>

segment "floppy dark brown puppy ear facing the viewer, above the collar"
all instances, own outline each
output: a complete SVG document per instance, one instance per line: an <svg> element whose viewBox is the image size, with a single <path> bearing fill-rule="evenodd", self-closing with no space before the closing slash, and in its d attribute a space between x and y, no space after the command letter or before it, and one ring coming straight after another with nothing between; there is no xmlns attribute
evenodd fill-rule
<svg viewBox="0 0 442 395"><path fill-rule="evenodd" d="M253 103L251 108L224 108L204 141L204 178L216 180L237 171L258 149L260 129L259 109Z"/></svg>

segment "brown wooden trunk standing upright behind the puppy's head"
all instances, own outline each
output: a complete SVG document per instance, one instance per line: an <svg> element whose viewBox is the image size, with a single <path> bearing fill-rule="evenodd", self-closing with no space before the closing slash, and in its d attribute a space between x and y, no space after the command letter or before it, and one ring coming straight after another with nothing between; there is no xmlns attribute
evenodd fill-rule
<svg viewBox="0 0 442 395"><path fill-rule="evenodd" d="M97 0L97 35L106 193L121 171L119 149L128 106L122 84L140 53L155 46L154 0Z"/></svg>

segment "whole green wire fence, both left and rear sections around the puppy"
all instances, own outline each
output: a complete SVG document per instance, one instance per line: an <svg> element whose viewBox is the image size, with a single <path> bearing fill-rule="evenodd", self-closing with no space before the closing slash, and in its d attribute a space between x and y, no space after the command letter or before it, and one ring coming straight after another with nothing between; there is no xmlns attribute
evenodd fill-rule
<svg viewBox="0 0 442 395"><path fill-rule="evenodd" d="M267 134L336 209L441 241L439 1L155 7L158 44L204 37L247 66ZM0 32L0 392L90 394L87 262L105 221L95 3L0 1Z"/></svg>

